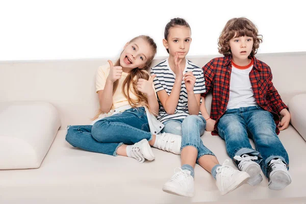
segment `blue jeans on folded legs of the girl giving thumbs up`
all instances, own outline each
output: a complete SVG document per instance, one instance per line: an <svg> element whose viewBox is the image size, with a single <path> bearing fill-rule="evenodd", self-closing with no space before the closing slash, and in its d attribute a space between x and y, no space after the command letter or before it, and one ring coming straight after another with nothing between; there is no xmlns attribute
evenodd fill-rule
<svg viewBox="0 0 306 204"><path fill-rule="evenodd" d="M93 125L68 126L66 141L74 147L117 156L117 148L122 144L135 144L142 139L150 141L149 131L145 109L131 108Z"/></svg>

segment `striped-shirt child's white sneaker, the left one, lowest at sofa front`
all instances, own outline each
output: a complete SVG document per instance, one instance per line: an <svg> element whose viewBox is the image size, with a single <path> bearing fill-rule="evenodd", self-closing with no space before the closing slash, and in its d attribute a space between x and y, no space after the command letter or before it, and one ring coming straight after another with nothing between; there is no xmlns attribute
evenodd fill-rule
<svg viewBox="0 0 306 204"><path fill-rule="evenodd" d="M192 197L194 193L194 181L189 170L175 168L174 175L164 184L163 191L174 195Z"/></svg>

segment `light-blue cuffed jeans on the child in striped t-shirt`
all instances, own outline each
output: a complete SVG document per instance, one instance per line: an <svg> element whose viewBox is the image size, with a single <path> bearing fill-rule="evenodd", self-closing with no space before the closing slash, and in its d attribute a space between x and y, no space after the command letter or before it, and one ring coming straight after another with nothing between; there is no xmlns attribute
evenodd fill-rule
<svg viewBox="0 0 306 204"><path fill-rule="evenodd" d="M194 146L198 150L196 163L203 155L213 155L213 152L203 145L200 138L206 127L206 120L202 116L189 115L183 119L167 120L163 123L165 127L162 133L182 135L181 151L186 146Z"/></svg>

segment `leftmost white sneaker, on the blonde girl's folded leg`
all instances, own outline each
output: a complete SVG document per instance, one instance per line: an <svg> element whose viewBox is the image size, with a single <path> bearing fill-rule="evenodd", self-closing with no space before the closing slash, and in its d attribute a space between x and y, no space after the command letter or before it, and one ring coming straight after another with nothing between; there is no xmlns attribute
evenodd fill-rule
<svg viewBox="0 0 306 204"><path fill-rule="evenodd" d="M135 158L137 162L140 163L143 163L145 159L149 161L155 159L151 146L146 139L136 142L131 146L131 157Z"/></svg>

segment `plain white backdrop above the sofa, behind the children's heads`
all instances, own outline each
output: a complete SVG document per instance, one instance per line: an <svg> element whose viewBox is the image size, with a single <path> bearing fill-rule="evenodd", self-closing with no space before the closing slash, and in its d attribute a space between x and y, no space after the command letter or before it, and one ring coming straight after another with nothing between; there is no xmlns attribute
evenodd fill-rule
<svg viewBox="0 0 306 204"><path fill-rule="evenodd" d="M173 17L191 26L189 56L218 54L226 21L242 16L263 35L258 53L306 51L302 1L0 1L0 61L114 58L141 34L166 56L162 39Z"/></svg>

